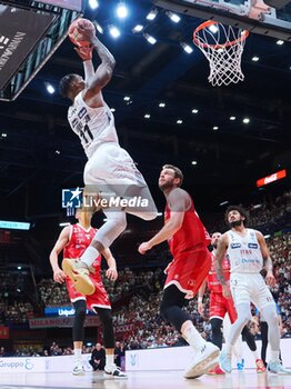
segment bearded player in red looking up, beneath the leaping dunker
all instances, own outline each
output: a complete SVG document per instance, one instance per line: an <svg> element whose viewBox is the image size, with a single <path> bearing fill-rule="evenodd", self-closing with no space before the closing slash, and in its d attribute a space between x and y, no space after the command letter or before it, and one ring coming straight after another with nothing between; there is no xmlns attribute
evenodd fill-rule
<svg viewBox="0 0 291 389"><path fill-rule="evenodd" d="M164 227L152 239L141 243L139 252L143 255L164 240L169 242L173 260L167 268L161 315L193 348L194 357L184 377L197 378L217 366L219 348L200 336L189 315L182 310L185 300L198 292L211 265L207 248L210 237L195 212L191 197L180 188L182 181L183 174L179 168L163 166L159 188L167 199Z"/></svg>

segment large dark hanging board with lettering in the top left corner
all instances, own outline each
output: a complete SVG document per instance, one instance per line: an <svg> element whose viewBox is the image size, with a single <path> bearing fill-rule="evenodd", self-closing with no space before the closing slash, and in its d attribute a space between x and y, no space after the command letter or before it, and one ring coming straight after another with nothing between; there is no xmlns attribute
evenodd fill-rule
<svg viewBox="0 0 291 389"><path fill-rule="evenodd" d="M0 3L0 101L12 101L67 38L82 0Z"/></svg>

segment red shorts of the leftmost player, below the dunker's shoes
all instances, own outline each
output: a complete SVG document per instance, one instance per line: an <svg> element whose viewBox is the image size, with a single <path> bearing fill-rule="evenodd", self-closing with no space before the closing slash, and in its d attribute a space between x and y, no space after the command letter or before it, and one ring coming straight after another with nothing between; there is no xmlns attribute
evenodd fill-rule
<svg viewBox="0 0 291 389"><path fill-rule="evenodd" d="M90 310L94 310L94 308L111 309L109 297L107 295L106 288L103 287L101 277L96 278L90 276L90 279L96 287L96 291L93 292L93 295L86 296L76 290L73 282L70 280L69 277L66 278L67 290L71 302L78 300L86 300L87 308Z"/></svg>

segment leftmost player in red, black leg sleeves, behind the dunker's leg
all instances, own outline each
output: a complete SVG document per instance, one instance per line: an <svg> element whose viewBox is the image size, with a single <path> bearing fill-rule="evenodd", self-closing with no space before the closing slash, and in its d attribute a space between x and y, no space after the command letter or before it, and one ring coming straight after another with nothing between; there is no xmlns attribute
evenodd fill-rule
<svg viewBox="0 0 291 389"><path fill-rule="evenodd" d="M111 316L111 306L103 287L100 267L101 256L96 258L92 263L92 272L90 279L94 285L94 292L90 296L84 296L77 291L71 279L60 269L58 265L58 256L63 250L63 257L80 258L82 252L91 243L97 230L91 227L92 213L89 211L78 210L76 218L77 225L67 226L61 231L51 253L50 263L53 270L53 279L56 282L62 283L66 281L67 290L76 310L72 328L73 350L74 350L74 367L73 375L82 375L83 367L81 361L81 352L84 336L86 311L90 309L99 315L103 328L103 341L106 347L106 373L113 377L127 377L114 363L114 333ZM103 256L108 263L107 278L114 281L118 278L116 259L109 249L106 249Z"/></svg>

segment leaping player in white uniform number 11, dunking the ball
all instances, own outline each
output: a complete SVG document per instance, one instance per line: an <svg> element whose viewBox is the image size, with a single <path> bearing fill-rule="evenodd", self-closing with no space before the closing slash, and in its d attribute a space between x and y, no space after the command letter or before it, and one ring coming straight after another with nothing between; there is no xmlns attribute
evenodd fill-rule
<svg viewBox="0 0 291 389"><path fill-rule="evenodd" d="M77 49L84 61L86 80L79 74L63 77L60 94L72 101L68 120L88 157L83 174L87 192L97 194L94 200L101 206L104 205L103 200L107 201L103 209L107 222L81 256L78 268L69 269L69 273L77 272L83 279L78 290L87 295L88 291L93 292L88 277L89 268L98 255L109 248L126 229L126 212L144 220L154 219L158 212L142 174L119 144L113 114L102 97L102 89L111 80L116 60L94 32L84 29L82 33L90 43L90 48ZM96 71L91 61L93 49L101 60ZM113 207L110 207L110 201L116 199L122 201L113 202ZM72 263L64 261L64 268L70 268Z"/></svg>

